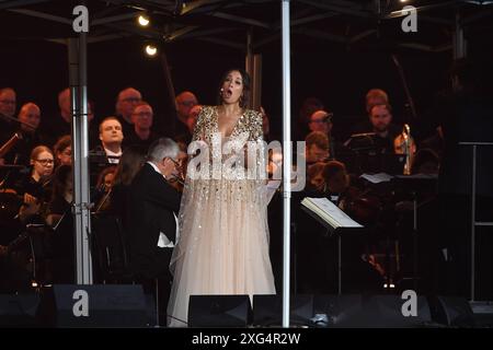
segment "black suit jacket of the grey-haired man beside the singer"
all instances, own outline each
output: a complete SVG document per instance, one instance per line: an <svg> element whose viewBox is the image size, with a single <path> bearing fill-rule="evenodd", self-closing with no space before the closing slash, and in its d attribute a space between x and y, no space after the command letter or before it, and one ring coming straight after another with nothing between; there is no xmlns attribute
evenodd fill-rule
<svg viewBox="0 0 493 350"><path fill-rule="evenodd" d="M130 265L135 272L156 276L162 269L158 258L160 232L175 242L180 194L151 165L145 164L131 182L127 206Z"/></svg>

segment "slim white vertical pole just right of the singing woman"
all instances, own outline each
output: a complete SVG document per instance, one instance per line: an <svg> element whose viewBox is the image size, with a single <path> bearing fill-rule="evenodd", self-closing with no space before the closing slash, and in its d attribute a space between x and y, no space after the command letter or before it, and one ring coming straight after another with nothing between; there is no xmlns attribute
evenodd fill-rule
<svg viewBox="0 0 493 350"><path fill-rule="evenodd" d="M290 284L290 199L291 199L291 77L289 48L289 0L282 2L283 22L283 202L284 202L284 260L283 260L283 327L289 327Z"/></svg>

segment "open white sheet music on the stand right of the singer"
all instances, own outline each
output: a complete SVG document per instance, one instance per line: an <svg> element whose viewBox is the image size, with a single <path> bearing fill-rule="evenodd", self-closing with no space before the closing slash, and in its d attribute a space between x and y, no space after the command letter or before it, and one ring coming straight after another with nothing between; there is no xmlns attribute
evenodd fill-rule
<svg viewBox="0 0 493 350"><path fill-rule="evenodd" d="M301 202L305 207L316 212L334 229L336 228L363 228L351 219L344 211L339 209L326 198L305 198Z"/></svg>

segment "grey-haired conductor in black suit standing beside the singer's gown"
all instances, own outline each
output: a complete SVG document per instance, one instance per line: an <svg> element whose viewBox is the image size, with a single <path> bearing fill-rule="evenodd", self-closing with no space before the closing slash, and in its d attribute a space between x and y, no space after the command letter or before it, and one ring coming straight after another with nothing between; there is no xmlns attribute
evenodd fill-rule
<svg viewBox="0 0 493 350"><path fill-rule="evenodd" d="M176 241L180 194L168 183L177 174L179 145L161 138L149 148L148 162L131 182L128 201L130 266L145 291L159 281L159 308L165 311L171 289L169 269ZM165 322L165 317L160 317Z"/></svg>

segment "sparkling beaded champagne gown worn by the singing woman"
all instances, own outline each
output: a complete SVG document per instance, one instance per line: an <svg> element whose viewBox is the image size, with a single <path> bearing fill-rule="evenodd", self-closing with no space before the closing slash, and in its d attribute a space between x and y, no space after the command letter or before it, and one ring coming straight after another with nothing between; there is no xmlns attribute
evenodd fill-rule
<svg viewBox="0 0 493 350"><path fill-rule="evenodd" d="M203 107L193 140L205 141L210 153L216 154L220 148L214 148L213 136L218 135L217 107ZM245 109L222 142L231 141L233 148L241 148L245 139L262 141L262 115ZM259 166L262 164L263 160L257 161ZM188 166L179 215L179 242L170 266L173 273L168 304L170 327L186 327L190 295L275 294L265 180L236 173L231 176L231 172L234 173L222 171L219 177L192 179Z"/></svg>

